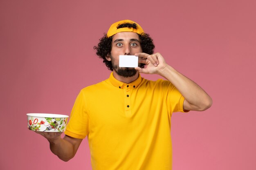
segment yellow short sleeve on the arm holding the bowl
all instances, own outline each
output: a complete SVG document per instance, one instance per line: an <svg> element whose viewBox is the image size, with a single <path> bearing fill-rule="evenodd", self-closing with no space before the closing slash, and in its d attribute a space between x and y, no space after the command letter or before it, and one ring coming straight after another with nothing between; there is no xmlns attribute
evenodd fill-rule
<svg viewBox="0 0 256 170"><path fill-rule="evenodd" d="M80 91L70 114L65 134L79 139L84 139L89 132L89 117L83 91Z"/></svg>

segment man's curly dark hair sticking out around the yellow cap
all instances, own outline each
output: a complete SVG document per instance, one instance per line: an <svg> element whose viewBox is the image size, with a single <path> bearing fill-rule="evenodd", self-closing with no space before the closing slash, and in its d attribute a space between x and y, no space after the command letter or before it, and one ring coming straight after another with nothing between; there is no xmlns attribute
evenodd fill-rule
<svg viewBox="0 0 256 170"><path fill-rule="evenodd" d="M135 23L123 23L117 26L119 28L134 28L137 29L137 24ZM139 35L139 34L138 34ZM150 38L150 35L147 33L142 33L139 35L140 45L143 53L153 54L155 45L153 39ZM103 63L106 64L109 70L113 71L112 62L108 61L106 57L110 55L112 49L112 36L107 37L107 34L104 33L104 36L99 40L98 46L93 47L94 50L97 50L96 54L103 59Z"/></svg>

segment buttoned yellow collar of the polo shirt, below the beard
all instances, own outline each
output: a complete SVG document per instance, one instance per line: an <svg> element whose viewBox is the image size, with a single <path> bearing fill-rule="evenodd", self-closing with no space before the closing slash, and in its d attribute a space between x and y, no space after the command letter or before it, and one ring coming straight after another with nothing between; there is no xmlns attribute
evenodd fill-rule
<svg viewBox="0 0 256 170"><path fill-rule="evenodd" d="M118 87L118 88L128 88L128 87L137 88L137 86L139 86L139 84L141 83L142 78L139 74L139 77L137 79L135 79L135 81L130 82L129 84L126 84L124 82L120 82L119 80L115 79L113 72L112 72L110 74L109 80L113 86Z"/></svg>

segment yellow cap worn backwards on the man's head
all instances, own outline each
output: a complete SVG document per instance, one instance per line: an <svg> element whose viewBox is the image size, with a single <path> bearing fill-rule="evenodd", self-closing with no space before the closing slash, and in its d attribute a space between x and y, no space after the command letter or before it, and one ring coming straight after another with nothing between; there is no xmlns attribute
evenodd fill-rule
<svg viewBox="0 0 256 170"><path fill-rule="evenodd" d="M134 32L134 33L138 33L139 35L141 35L141 33L144 33L143 29L141 28L141 26L139 24L137 24L137 29L128 28L128 27L117 29L118 25L124 24L124 23L137 24L136 22L134 22L132 20L121 20L121 21L115 22L108 29L107 37L111 37L112 35L115 35L116 33L120 33L120 32Z"/></svg>

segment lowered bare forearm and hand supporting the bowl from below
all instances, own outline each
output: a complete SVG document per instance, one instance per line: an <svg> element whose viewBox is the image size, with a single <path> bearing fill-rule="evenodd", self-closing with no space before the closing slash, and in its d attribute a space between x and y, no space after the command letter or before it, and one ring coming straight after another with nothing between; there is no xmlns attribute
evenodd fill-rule
<svg viewBox="0 0 256 170"><path fill-rule="evenodd" d="M63 161L72 159L79 148L83 139L77 139L65 135L61 138L62 132L37 132L36 133L45 137L50 143L52 153L57 155Z"/></svg>

